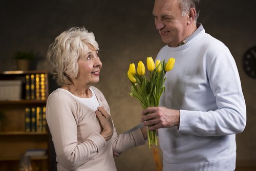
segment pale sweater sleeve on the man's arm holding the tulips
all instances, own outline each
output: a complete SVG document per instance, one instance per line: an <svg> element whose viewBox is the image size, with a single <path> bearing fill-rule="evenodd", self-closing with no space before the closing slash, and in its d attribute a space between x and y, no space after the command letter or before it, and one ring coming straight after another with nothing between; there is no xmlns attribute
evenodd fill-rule
<svg viewBox="0 0 256 171"><path fill-rule="evenodd" d="M222 136L241 133L246 124L246 107L236 63L227 48L206 61L208 87L217 109L180 110L180 133ZM198 101L207 101L200 99Z"/></svg>

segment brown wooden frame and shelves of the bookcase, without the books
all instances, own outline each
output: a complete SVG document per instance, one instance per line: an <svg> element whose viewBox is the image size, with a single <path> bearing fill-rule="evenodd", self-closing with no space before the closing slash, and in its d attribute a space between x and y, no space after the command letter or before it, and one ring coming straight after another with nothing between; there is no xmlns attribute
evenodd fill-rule
<svg viewBox="0 0 256 171"><path fill-rule="evenodd" d="M45 98L28 98L26 76L44 74ZM18 170L19 160L27 149L47 149L46 155L30 157L33 170L49 170L49 137L47 131L25 131L25 109L44 108L48 97L47 71L6 71L0 73L0 81L21 80L20 99L1 99L0 112L5 118L0 127L0 170ZM19 81L20 82L20 81ZM31 85L30 85L31 86ZM34 87L35 88L35 87ZM35 88L36 89L36 88ZM2 92L3 93L3 92ZM10 92L11 93L11 92ZM39 121L38 121L39 123ZM39 129L38 129L39 130Z"/></svg>

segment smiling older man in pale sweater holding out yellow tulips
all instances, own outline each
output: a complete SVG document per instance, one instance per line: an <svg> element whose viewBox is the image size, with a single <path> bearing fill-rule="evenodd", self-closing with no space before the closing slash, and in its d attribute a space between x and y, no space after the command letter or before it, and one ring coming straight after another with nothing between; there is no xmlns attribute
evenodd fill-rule
<svg viewBox="0 0 256 171"><path fill-rule="evenodd" d="M156 0L155 25L166 44L157 59L176 58L159 107L141 121L159 132L163 170L234 170L236 134L246 106L228 48L197 23L200 0ZM146 115L147 113L151 113Z"/></svg>

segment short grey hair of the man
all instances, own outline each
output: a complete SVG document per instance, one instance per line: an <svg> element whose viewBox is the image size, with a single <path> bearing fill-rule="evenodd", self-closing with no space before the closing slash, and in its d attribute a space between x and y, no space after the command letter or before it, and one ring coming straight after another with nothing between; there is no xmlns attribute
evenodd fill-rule
<svg viewBox="0 0 256 171"><path fill-rule="evenodd" d="M185 16L191 8L196 9L195 23L200 13L200 0L180 0L182 16Z"/></svg>

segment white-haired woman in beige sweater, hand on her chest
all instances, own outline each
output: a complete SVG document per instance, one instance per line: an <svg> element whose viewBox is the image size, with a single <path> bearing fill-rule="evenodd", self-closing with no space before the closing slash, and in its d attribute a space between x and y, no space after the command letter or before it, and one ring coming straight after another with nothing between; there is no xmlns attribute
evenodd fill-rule
<svg viewBox="0 0 256 171"><path fill-rule="evenodd" d="M113 152L144 144L146 129L117 134L99 81L102 63L94 34L71 28L55 38L47 58L61 88L48 97L46 119L58 170L116 170Z"/></svg>

